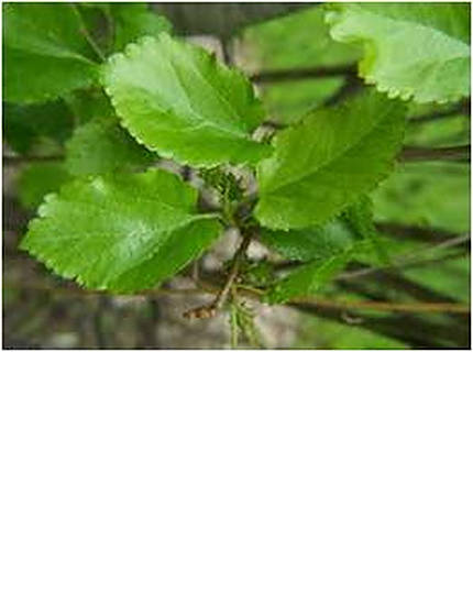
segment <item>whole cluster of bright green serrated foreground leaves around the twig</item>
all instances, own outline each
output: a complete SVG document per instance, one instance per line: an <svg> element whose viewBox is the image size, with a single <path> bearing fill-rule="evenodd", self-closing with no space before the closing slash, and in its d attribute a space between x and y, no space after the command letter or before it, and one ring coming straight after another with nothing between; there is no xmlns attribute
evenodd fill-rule
<svg viewBox="0 0 473 616"><path fill-rule="evenodd" d="M274 129L242 70L146 4L4 3L6 138L41 158L21 178L23 204L38 208L22 248L85 287L142 293L237 228L235 255L201 280L216 298L194 315L229 306L233 338L248 339L244 294L296 301L350 262L389 263L373 195L406 155L413 107L469 96L470 8L328 3L311 14L332 45L324 66L356 57L364 85ZM272 258L251 263L253 239Z"/></svg>

